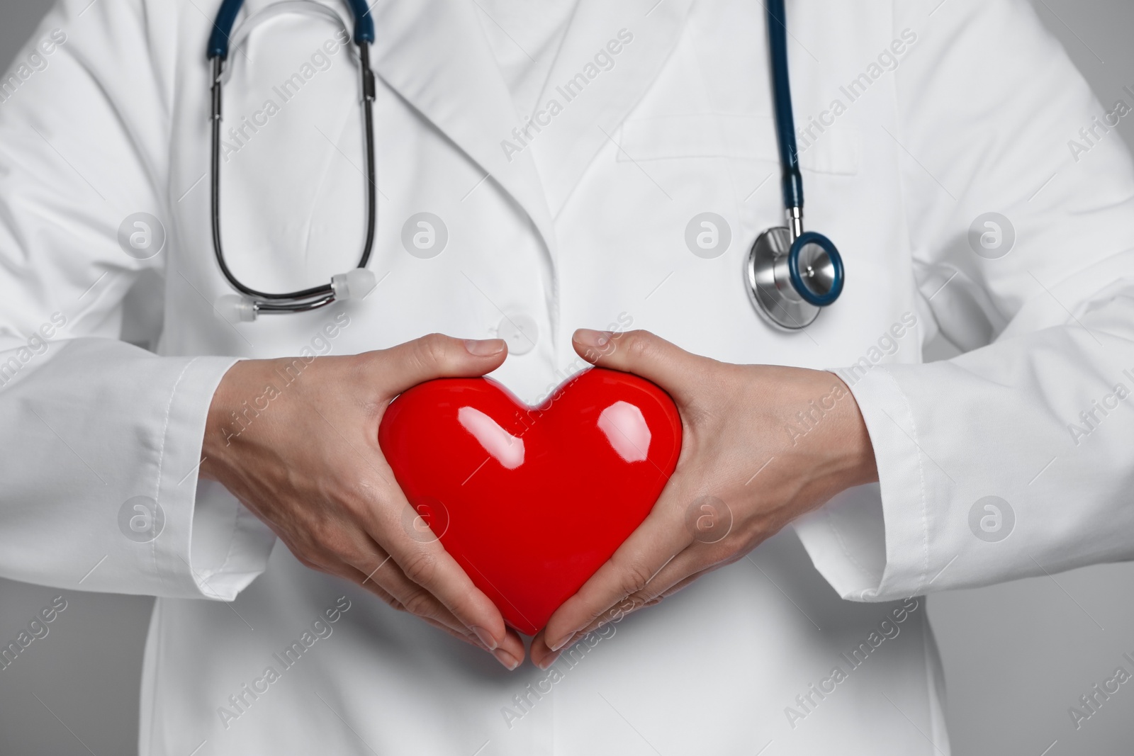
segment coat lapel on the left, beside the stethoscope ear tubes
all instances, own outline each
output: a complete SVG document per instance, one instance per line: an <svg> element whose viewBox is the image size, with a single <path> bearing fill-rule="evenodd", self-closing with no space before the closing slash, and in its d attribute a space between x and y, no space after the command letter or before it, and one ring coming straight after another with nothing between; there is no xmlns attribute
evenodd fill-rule
<svg viewBox="0 0 1134 756"><path fill-rule="evenodd" d="M553 254L555 233L530 153L501 143L519 122L468 0L384 0L371 12L371 67L510 194ZM467 187L473 189L473 187Z"/></svg>

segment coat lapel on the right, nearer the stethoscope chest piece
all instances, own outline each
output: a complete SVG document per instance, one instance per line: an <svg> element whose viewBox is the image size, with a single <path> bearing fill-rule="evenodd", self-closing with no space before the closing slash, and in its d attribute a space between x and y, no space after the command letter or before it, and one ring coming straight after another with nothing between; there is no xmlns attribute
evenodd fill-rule
<svg viewBox="0 0 1134 756"><path fill-rule="evenodd" d="M534 136L552 214L559 213L599 150L617 139L618 126L661 73L691 5L692 0L579 0L540 99L541 107L555 100L562 110L545 118L550 125ZM633 35L629 43L619 40L623 29L623 40ZM621 42L621 50L611 56L613 67L603 70L594 58L611 40ZM572 80L582 84L581 74L587 83L568 87Z"/></svg>

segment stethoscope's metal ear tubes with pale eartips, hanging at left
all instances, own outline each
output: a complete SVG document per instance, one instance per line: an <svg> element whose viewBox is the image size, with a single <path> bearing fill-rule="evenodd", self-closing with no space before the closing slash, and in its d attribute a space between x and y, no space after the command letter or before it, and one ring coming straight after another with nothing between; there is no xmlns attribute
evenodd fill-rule
<svg viewBox="0 0 1134 756"><path fill-rule="evenodd" d="M240 11L244 0L223 0L217 12L212 32L209 35L208 58L212 60L212 238L217 264L229 284L239 295L232 301L226 303L226 316L231 320L252 321L260 313L298 313L325 307L339 299L350 299L365 296L374 288L374 275L366 270L371 249L374 245L374 227L376 215L376 186L374 182L374 136L373 111L374 74L370 68L370 44L374 41L374 19L370 8L363 0L346 0L354 17L353 40L358 45L358 57L362 70L362 103L364 116L364 136L366 144L366 240L363 244L358 265L347 273L331 277L331 282L323 286L270 294L245 286L225 262L225 252L220 233L220 128L221 128L221 78L225 61L228 59L229 41L232 24ZM227 311L232 311L228 313Z"/></svg>

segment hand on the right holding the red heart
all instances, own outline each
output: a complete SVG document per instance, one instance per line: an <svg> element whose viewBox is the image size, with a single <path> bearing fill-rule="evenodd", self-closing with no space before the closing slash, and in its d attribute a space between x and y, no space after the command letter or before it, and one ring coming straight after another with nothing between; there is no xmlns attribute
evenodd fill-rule
<svg viewBox="0 0 1134 756"><path fill-rule="evenodd" d="M541 668L596 627L737 561L836 493L878 479L858 405L832 373L719 363L648 331L581 329L574 346L595 365L665 389L682 416L682 453L646 519L533 639Z"/></svg>

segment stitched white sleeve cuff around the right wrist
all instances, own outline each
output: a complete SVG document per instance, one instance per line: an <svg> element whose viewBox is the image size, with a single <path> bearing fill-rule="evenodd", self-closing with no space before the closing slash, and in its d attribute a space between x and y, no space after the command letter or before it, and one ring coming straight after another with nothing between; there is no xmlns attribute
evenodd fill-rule
<svg viewBox="0 0 1134 756"><path fill-rule="evenodd" d="M879 482L844 491L795 523L815 569L850 601L920 595L929 572L925 459L909 404L877 366L857 380L838 371L862 413Z"/></svg>

